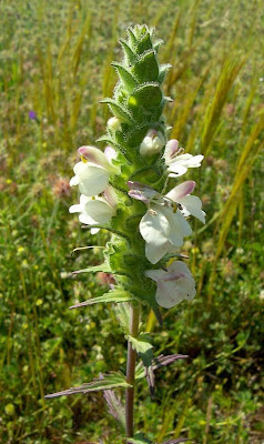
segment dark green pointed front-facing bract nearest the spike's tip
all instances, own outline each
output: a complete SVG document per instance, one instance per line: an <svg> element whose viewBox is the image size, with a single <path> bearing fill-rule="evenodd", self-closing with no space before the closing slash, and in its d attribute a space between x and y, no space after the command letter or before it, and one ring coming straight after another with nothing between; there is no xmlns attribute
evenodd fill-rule
<svg viewBox="0 0 264 444"><path fill-rule="evenodd" d="M140 82L156 81L159 77L159 64L155 51L145 52L132 68L132 73Z"/></svg>

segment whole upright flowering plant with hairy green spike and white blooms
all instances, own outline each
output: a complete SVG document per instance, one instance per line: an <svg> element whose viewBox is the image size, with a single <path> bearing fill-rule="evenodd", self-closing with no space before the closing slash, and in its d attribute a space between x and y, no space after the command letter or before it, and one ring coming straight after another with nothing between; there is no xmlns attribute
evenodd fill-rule
<svg viewBox="0 0 264 444"><path fill-rule="evenodd" d="M189 168L201 165L203 155L183 153L176 140L167 141L163 109L170 98L161 85L170 65L159 64L161 41L153 41L146 26L128 29L128 40L120 40L122 63L112 63L119 75L113 99L104 99L113 113L106 134L99 139L104 152L94 147L79 149L70 184L79 186L80 222L97 233L109 230L112 236L104 250L104 263L80 272L112 273L115 285L102 296L71 309L94 303L118 304L119 317L128 340L126 375L109 373L80 387L48 395L104 391L110 413L118 420L128 443L148 443L134 434L133 404L135 382L146 376L154 393L154 371L186 356L174 354L154 359L151 337L140 327L140 310L148 304L162 323L160 306L172 307L195 296L194 279L180 248L192 233L190 215L204 223L200 199L192 194L195 182L176 183ZM140 363L135 366L136 356ZM125 404L113 389L125 389ZM186 440L172 440L169 443Z"/></svg>

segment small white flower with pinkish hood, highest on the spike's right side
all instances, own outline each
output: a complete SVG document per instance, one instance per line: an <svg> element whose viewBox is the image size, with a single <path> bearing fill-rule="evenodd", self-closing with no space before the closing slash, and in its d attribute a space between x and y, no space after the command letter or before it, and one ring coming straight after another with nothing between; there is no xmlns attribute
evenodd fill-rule
<svg viewBox="0 0 264 444"><path fill-rule="evenodd" d="M172 139L166 143L163 158L167 165L169 178L177 178L185 174L189 168L199 168L203 160L203 155L180 154L183 149L179 149L176 139Z"/></svg>

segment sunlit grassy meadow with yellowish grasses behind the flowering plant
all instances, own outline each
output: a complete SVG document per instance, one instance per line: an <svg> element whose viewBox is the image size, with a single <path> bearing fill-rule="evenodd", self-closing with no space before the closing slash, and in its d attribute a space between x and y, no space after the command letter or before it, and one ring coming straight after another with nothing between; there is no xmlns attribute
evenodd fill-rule
<svg viewBox="0 0 264 444"><path fill-rule="evenodd" d="M132 23L156 28L172 68L165 110L186 152L206 224L184 244L196 281L190 304L145 309L158 354L190 357L156 373L156 400L138 392L136 424L158 443L261 444L263 426L264 147L261 0L3 0L0 3L0 442L119 443L103 396L47 393L124 370L114 306L69 306L103 294L105 244L69 214L77 149L104 133ZM103 144L102 144L103 148ZM143 407L144 401L144 407ZM158 418L158 420L156 420Z"/></svg>

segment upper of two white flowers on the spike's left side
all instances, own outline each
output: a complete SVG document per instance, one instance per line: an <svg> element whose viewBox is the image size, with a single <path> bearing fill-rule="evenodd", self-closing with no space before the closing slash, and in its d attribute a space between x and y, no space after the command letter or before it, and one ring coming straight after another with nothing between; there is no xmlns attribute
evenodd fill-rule
<svg viewBox="0 0 264 444"><path fill-rule="evenodd" d="M81 147L79 153L82 161L78 162L73 171L75 175L71 179L70 185L79 185L80 192L87 196L92 196L101 193L109 184L111 173L116 173L119 170L109 160L106 150L105 153L94 147Z"/></svg>

